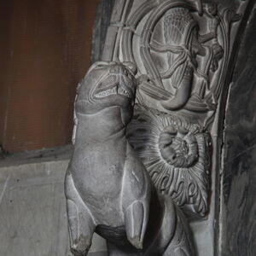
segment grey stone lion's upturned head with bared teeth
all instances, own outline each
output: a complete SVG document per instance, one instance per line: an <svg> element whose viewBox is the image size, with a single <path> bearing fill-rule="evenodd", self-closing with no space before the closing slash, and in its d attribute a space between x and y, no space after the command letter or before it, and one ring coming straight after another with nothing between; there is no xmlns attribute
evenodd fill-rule
<svg viewBox="0 0 256 256"><path fill-rule="evenodd" d="M103 108L134 104L135 67L131 62L96 62L78 87L77 113L96 113Z"/></svg>

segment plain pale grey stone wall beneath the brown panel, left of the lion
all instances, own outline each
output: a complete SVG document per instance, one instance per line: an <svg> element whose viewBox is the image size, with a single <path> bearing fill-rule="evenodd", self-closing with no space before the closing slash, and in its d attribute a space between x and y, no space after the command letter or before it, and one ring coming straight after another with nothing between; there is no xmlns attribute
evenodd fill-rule
<svg viewBox="0 0 256 256"><path fill-rule="evenodd" d="M0 255L71 255L63 182L70 154L69 146L0 161ZM91 255L105 250L95 236Z"/></svg>

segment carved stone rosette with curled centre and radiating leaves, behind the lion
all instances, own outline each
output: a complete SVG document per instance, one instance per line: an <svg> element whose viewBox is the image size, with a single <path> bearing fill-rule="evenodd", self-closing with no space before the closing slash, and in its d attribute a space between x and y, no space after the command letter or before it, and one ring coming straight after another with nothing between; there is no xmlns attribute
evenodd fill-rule
<svg viewBox="0 0 256 256"><path fill-rule="evenodd" d="M137 105L127 136L156 189L189 216L204 217L211 138L200 125Z"/></svg>

